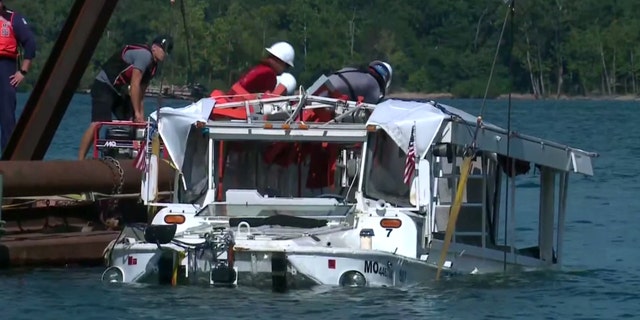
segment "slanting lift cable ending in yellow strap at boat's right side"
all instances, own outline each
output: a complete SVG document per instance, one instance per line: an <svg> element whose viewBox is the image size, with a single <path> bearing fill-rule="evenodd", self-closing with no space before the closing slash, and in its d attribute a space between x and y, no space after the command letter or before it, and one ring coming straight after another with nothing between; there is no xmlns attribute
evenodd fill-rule
<svg viewBox="0 0 640 320"><path fill-rule="evenodd" d="M436 281L440 279L440 273L442 272L442 268L444 266L445 259L447 257L447 252L449 251L449 245L451 243L451 238L453 237L453 232L455 231L455 225L458 220L458 215L460 214L460 208L462 206L462 195L464 194L464 189L466 187L469 174L471 173L471 161L476 155L476 140L478 137L478 131L482 126L482 114L484 112L484 101L487 97L487 92L489 90L489 86L491 85L491 79L493 77L493 71L495 69L495 62L498 57L498 52L500 50L500 44L502 42L502 36L504 34L504 29L507 24L507 19L509 18L509 14L513 14L513 5L515 0L511 0L509 8L507 10L507 15L505 16L504 23L502 25L502 31L500 32L500 39L498 40L498 47L496 48L496 54L494 56L494 61L491 66L491 72L489 74L489 81L487 83L487 89L485 92L485 97L483 99L482 108L480 111L480 115L476 121L476 128L473 134L473 139L471 140L470 146L467 146L463 155L464 160L462 162L462 166L460 167L460 180L458 181L458 187L456 190L456 195L449 209L449 220L447 221L447 228L445 230L444 242L442 245L442 249L440 251L440 259L438 261L437 271L436 271ZM513 19L511 19L513 21ZM510 129L509 129L510 130ZM507 144L508 145L508 144Z"/></svg>

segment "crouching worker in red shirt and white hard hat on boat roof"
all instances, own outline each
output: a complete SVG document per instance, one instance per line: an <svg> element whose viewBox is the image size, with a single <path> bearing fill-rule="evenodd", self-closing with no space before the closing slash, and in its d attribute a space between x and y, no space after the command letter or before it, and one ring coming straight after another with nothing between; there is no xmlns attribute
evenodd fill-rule
<svg viewBox="0 0 640 320"><path fill-rule="evenodd" d="M295 50L287 42L277 42L265 50L269 53L267 57L242 75L229 91L213 90L211 98L216 99L217 103L226 103L255 99L258 94L273 94L278 85L278 76L293 67ZM246 119L247 115L244 108L213 108L209 118L214 120L219 117Z"/></svg>

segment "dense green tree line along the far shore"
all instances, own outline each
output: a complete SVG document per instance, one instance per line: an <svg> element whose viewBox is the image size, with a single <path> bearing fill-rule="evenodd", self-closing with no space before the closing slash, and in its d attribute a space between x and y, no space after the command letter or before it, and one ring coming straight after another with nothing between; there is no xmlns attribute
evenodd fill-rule
<svg viewBox="0 0 640 320"><path fill-rule="evenodd" d="M4 2L37 36L38 74L73 0ZM635 95L637 12L640 2L631 0L519 0L513 19L500 0L121 0L79 89L123 44L165 33L174 52L156 85L228 88L265 47L284 40L296 48L290 72L303 86L382 59L394 68L393 92L482 97L491 75L489 97Z"/></svg>

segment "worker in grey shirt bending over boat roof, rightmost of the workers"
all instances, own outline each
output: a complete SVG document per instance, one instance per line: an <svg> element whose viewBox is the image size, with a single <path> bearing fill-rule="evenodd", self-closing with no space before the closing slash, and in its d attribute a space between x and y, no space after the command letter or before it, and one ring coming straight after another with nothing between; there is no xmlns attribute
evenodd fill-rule
<svg viewBox="0 0 640 320"><path fill-rule="evenodd" d="M314 95L376 104L384 99L393 69L383 61L372 61L366 69L342 68L328 77L328 84Z"/></svg>

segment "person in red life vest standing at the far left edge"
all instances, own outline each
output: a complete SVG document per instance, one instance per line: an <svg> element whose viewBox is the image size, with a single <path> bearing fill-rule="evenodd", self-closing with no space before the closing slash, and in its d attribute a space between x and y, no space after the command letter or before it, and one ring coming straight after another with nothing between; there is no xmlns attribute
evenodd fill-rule
<svg viewBox="0 0 640 320"><path fill-rule="evenodd" d="M27 20L5 7L2 0L0 22L0 147L4 150L16 126L16 88L36 56L36 40ZM18 47L24 51L19 69Z"/></svg>

